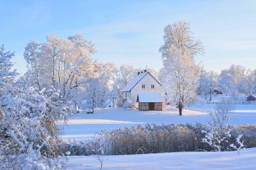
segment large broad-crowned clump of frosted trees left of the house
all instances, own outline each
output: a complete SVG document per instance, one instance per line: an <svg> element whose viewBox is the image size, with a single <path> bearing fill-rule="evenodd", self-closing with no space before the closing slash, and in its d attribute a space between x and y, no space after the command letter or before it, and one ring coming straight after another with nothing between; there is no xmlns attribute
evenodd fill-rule
<svg viewBox="0 0 256 170"><path fill-rule="evenodd" d="M68 40L50 35L40 44L31 41L24 52L28 67L24 79L39 89L54 87L64 101L76 101L78 87L92 72L91 54L95 52L92 42L80 34Z"/></svg>

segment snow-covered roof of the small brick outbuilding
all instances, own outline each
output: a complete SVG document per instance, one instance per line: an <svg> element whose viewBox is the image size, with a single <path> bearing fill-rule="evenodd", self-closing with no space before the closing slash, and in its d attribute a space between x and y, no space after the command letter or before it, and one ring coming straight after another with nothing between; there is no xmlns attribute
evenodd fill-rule
<svg viewBox="0 0 256 170"><path fill-rule="evenodd" d="M137 102L164 102L164 97L160 92L140 92L137 96Z"/></svg>

